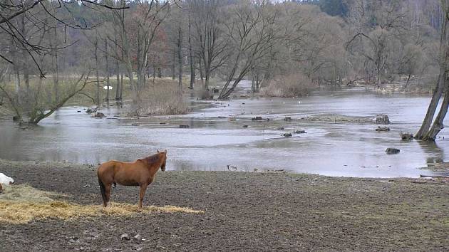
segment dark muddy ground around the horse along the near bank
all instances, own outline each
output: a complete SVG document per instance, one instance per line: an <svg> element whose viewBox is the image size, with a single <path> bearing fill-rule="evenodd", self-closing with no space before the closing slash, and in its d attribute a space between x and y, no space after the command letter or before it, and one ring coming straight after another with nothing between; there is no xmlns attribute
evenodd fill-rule
<svg viewBox="0 0 449 252"><path fill-rule="evenodd" d="M68 201L100 204L96 167L9 162L0 172ZM425 183L425 184L420 184ZM136 202L120 187L113 201ZM138 214L0 224L0 251L449 251L449 183L269 172L158 172ZM129 241L120 236L140 234Z"/></svg>

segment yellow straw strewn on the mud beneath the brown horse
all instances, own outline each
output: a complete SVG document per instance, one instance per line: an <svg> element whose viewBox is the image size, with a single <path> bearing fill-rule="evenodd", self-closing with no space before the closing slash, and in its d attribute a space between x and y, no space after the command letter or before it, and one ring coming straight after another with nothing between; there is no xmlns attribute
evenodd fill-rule
<svg viewBox="0 0 449 252"><path fill-rule="evenodd" d="M112 203L104 209L100 205L56 201L51 199L51 196L61 196L61 194L40 191L27 185L6 187L4 193L0 194L0 223L24 224L36 219L71 220L80 217L130 216L138 213L204 213L204 211L179 206L144 206L139 209L137 205L121 203Z"/></svg>

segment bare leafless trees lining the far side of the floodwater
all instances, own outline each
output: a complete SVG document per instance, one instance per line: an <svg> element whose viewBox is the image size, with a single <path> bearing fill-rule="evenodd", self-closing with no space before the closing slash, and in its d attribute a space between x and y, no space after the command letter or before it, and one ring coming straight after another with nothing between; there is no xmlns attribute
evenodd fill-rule
<svg viewBox="0 0 449 252"><path fill-rule="evenodd" d="M349 11L340 17L289 1L2 1L0 86L19 117L30 117L36 100L46 114L72 92L100 105L103 84L115 91L107 88L105 100L132 90L139 106L151 80L164 76L178 80L179 94L189 77L202 98L220 81L218 98L226 99L243 79L257 92L276 88L279 76L301 80L297 85L405 81L408 88L438 75L440 2L345 2ZM87 73L93 93L65 88ZM39 85L46 92L37 92Z"/></svg>

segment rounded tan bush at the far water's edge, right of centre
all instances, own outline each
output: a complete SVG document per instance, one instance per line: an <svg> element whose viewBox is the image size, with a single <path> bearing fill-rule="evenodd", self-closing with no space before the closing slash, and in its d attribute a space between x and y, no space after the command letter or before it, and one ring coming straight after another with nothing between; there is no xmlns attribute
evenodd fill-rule
<svg viewBox="0 0 449 252"><path fill-rule="evenodd" d="M262 88L261 93L270 97L293 97L306 95L312 88L311 80L301 73L282 75Z"/></svg>

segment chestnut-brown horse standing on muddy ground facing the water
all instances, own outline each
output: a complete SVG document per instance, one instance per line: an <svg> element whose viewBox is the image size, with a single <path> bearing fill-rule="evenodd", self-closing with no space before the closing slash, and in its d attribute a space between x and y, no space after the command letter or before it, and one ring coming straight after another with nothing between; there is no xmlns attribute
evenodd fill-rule
<svg viewBox="0 0 449 252"><path fill-rule="evenodd" d="M150 157L137 159L135 162L120 162L110 160L98 167L98 184L100 184L103 206L108 206L110 189L114 184L123 186L140 187L139 208L142 208L143 196L147 187L156 177L158 169L165 171L167 162L167 150L159 152Z"/></svg>

